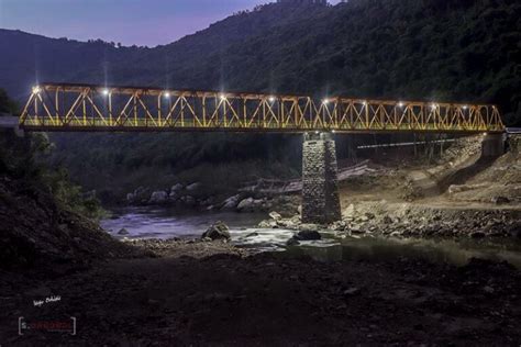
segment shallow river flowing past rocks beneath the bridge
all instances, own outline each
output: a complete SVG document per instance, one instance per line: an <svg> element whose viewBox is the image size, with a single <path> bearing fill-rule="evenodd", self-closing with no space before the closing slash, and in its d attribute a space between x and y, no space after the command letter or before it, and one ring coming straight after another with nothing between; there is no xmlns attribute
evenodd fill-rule
<svg viewBox="0 0 521 347"><path fill-rule="evenodd" d="M308 255L318 260L421 258L436 262L465 265L470 258L506 260L521 269L521 243L513 239L424 239L383 237L336 237L324 232L323 239L302 242L286 247L293 235L288 230L259 230L255 226L266 214L235 212L186 212L168 209L132 208L115 211L114 217L102 221L102 227L114 237L196 238L217 221L230 226L232 242L254 251L281 251L282 256ZM128 235L119 235L121 228Z"/></svg>

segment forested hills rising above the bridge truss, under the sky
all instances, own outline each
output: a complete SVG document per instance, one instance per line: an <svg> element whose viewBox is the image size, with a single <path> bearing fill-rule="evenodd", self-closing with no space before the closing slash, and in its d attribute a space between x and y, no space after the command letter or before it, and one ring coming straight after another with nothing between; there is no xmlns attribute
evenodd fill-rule
<svg viewBox="0 0 521 347"><path fill-rule="evenodd" d="M15 97L37 77L483 101L519 124L520 18L514 0L351 0L258 7L155 48L0 31L0 86Z"/></svg>

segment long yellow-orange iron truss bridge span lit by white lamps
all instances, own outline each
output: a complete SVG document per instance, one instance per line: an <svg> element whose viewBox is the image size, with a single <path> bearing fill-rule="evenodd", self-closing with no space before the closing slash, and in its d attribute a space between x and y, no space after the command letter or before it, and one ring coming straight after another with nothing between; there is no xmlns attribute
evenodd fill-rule
<svg viewBox="0 0 521 347"><path fill-rule="evenodd" d="M502 133L495 105L44 83L20 116L26 131Z"/></svg>

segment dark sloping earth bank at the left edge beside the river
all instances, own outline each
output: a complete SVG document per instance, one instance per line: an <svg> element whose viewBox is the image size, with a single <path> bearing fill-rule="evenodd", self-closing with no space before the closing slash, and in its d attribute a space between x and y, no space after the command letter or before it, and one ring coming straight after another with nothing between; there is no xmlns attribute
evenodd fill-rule
<svg viewBox="0 0 521 347"><path fill-rule="evenodd" d="M0 269L82 266L134 255L99 225L56 204L31 182L0 177Z"/></svg>

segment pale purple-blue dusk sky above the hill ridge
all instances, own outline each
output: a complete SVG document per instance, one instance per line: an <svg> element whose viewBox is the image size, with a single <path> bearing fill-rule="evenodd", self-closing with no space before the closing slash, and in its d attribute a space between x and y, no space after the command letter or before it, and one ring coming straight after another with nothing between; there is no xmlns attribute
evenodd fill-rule
<svg viewBox="0 0 521 347"><path fill-rule="evenodd" d="M0 0L0 27L156 46L269 0ZM335 3L339 1L330 1Z"/></svg>

